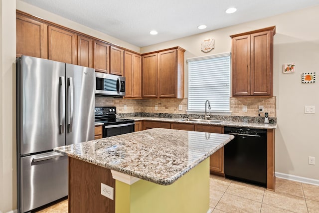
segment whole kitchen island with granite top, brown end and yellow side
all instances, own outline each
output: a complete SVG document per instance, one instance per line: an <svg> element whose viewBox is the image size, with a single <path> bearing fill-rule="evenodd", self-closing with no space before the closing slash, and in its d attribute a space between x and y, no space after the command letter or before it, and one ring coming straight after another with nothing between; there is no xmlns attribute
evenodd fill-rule
<svg viewBox="0 0 319 213"><path fill-rule="evenodd" d="M232 139L155 128L55 148L69 157L69 213L210 212L207 158Z"/></svg>

